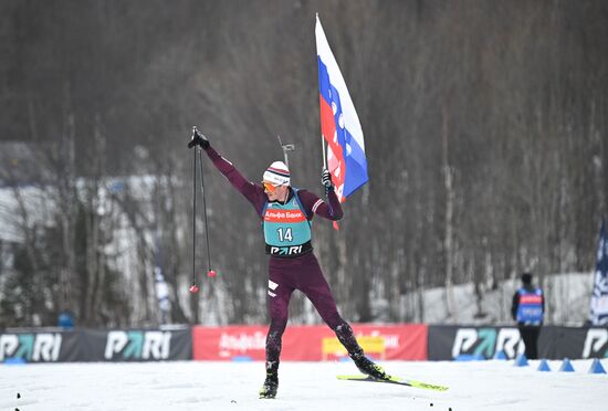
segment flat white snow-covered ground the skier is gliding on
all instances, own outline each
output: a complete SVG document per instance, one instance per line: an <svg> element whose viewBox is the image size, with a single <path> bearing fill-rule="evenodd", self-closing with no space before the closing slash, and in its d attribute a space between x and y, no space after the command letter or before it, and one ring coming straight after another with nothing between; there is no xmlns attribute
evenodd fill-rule
<svg viewBox="0 0 608 411"><path fill-rule="evenodd" d="M279 396L258 399L262 362L45 363L0 366L0 410L606 410L608 375L513 367L513 361L386 361L401 377L447 384L447 392L339 381L350 362L283 362ZM608 360L604 360L604 368ZM20 398L18 398L18 394Z"/></svg>

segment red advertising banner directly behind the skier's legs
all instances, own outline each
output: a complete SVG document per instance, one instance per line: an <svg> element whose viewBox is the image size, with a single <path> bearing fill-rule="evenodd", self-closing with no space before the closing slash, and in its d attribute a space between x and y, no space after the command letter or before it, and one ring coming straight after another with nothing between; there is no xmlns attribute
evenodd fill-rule
<svg viewBox="0 0 608 411"><path fill-rule="evenodd" d="M424 360L427 326L353 325L357 340L369 357ZM192 356L196 360L263 360L266 326L193 327ZM335 360L347 356L327 326L289 326L283 335L281 360Z"/></svg>

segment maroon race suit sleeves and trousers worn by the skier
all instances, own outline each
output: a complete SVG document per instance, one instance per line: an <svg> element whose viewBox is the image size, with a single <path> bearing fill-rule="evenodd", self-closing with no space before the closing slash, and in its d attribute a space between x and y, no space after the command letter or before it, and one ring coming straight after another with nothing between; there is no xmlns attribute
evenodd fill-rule
<svg viewBox="0 0 608 411"><path fill-rule="evenodd" d="M218 170L251 202L258 217L262 220L264 205L269 201L262 186L245 179L230 161L221 157L212 147L208 147L206 152ZM293 196L294 192L290 189L289 199ZM297 196L308 220L312 220L314 214L333 221L342 219L342 207L333 190L329 190L328 193L329 203L306 190L298 190ZM269 280L269 285L272 284L273 289L268 297L271 324L266 335L266 369L279 367L281 340L287 325L290 298L294 289L300 289L313 303L323 320L336 333L338 340L350 356L363 355L363 349L357 344L353 329L338 314L336 302L318 262L312 253L312 247L308 253L294 257L271 255Z"/></svg>

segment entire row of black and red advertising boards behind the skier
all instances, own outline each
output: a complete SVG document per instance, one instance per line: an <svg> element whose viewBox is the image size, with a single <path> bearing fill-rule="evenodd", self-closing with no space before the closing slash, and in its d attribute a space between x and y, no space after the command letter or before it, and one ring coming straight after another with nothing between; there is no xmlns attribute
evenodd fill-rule
<svg viewBox="0 0 608 411"><path fill-rule="evenodd" d="M381 360L515 358L524 352L516 327L354 325L366 354ZM0 363L66 361L263 360L266 326L177 329L39 329L0 334ZM544 326L541 358L608 358L608 327ZM289 326L282 360L346 358L326 326ZM461 357L462 358L462 357Z"/></svg>

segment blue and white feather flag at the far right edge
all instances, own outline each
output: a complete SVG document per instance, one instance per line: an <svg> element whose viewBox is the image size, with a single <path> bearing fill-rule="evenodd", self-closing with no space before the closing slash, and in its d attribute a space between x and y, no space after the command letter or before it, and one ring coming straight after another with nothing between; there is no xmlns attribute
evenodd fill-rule
<svg viewBox="0 0 608 411"><path fill-rule="evenodd" d="M593 325L608 324L608 236L606 235L606 222L601 221L599 244L597 245L596 276L591 293Z"/></svg>

